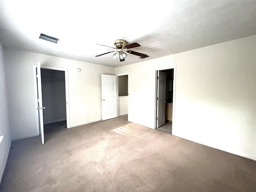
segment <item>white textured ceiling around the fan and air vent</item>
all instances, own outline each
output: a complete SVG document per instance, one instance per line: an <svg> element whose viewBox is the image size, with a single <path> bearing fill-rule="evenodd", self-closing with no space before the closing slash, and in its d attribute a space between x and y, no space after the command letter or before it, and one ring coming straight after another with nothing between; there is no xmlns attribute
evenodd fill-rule
<svg viewBox="0 0 256 192"><path fill-rule="evenodd" d="M113 49L96 44L116 39L150 56L128 54L128 65L254 34L256 0L0 0L3 46L105 66L116 66L112 53L95 56Z"/></svg>

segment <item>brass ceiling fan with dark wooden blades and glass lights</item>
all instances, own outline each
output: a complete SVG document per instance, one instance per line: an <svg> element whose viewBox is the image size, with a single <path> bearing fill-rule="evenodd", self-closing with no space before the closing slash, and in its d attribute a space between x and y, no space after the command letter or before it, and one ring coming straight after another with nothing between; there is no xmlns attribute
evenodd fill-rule
<svg viewBox="0 0 256 192"><path fill-rule="evenodd" d="M100 44L96 44L96 45L100 45ZM106 46L106 45L101 45L101 46L110 47L110 46ZM100 55L96 55L96 57L102 56L102 55L105 55L105 54L108 54L108 53L112 53L112 52L115 52L114 55L113 55L113 57L114 57L115 59L118 59L118 58L119 58L120 61L124 61L124 58L126 58L127 53L140 56L141 59L144 59L144 58L146 58L146 57L149 57L149 56L146 55L146 54L129 50L130 48L139 47L140 44L138 44L138 43L132 43L132 44L128 44L128 45L127 45L127 42L126 42L125 40L118 39L118 40L115 40L115 41L114 41L114 46L116 46L116 47L110 47L110 48L113 48L113 49L115 49L115 50L110 51L110 52L107 52L107 53L103 53L103 54L100 54Z"/></svg>

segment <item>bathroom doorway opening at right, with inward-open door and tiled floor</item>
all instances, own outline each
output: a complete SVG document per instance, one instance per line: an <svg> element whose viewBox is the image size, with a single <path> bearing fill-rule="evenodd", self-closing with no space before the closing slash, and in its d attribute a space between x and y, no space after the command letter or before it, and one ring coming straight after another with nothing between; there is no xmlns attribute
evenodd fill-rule
<svg viewBox="0 0 256 192"><path fill-rule="evenodd" d="M155 128L174 132L176 66L156 70Z"/></svg>

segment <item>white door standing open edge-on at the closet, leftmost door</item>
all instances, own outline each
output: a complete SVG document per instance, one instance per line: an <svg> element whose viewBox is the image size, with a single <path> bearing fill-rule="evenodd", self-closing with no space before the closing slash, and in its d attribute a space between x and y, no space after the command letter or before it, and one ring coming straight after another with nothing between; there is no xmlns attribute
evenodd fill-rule
<svg viewBox="0 0 256 192"><path fill-rule="evenodd" d="M36 78L37 78L37 95L38 95L38 111L39 111L39 126L40 126L40 134L42 139L42 144L44 144L44 118L43 118L43 101L42 101L42 82L41 82L41 66L40 62L37 64L36 70Z"/></svg>

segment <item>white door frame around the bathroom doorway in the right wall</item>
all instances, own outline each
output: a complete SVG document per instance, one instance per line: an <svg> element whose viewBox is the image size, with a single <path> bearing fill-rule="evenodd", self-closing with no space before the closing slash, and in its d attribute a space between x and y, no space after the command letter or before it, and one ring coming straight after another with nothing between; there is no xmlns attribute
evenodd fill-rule
<svg viewBox="0 0 256 192"><path fill-rule="evenodd" d="M155 98L157 97L157 72L162 71L162 70L168 70L168 69L173 69L173 100L172 100L172 134L175 134L175 92L176 92L176 65L171 65L171 66L165 66L165 67L160 67L160 68L155 68ZM157 116L157 101L155 99L155 129L156 129L156 116Z"/></svg>

